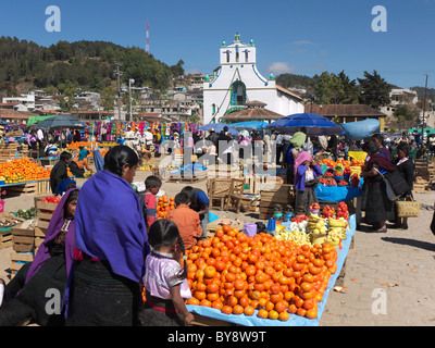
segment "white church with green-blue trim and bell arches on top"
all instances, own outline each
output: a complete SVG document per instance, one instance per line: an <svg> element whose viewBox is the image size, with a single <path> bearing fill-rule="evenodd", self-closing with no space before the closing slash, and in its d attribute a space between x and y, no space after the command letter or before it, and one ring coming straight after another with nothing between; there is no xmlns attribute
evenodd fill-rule
<svg viewBox="0 0 435 348"><path fill-rule="evenodd" d="M203 123L215 123L228 111L241 109L249 101L265 103L265 109L283 116L304 111L302 98L276 85L273 74L263 77L257 70L256 45L241 42L236 34L233 44L222 42L220 65L203 84Z"/></svg>

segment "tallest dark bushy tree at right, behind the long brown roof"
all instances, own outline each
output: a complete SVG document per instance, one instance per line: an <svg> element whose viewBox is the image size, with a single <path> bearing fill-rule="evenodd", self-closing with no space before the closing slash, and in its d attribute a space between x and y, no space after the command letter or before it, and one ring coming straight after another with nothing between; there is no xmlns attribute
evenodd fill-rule
<svg viewBox="0 0 435 348"><path fill-rule="evenodd" d="M360 102L374 109L389 104L391 86L376 71L373 74L364 72L364 77L358 78L361 86Z"/></svg>

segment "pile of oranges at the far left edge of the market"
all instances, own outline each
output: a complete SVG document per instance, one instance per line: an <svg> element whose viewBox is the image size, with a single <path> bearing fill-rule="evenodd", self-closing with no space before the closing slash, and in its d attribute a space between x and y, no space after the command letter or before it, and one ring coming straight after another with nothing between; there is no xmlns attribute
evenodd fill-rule
<svg viewBox="0 0 435 348"><path fill-rule="evenodd" d="M50 172L27 158L0 163L0 176L4 177L7 184L48 179Z"/></svg>

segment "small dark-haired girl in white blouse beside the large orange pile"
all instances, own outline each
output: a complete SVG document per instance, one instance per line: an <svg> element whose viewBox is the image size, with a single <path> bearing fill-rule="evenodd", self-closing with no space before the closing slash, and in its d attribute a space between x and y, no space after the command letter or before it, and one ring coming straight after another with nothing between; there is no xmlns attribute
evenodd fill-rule
<svg viewBox="0 0 435 348"><path fill-rule="evenodd" d="M148 232L148 241L152 251L145 261L146 302L139 312L140 324L189 325L194 315L184 301L191 297L191 293L186 277L187 264L185 262L183 269L177 261L185 250L176 224L165 219L158 220Z"/></svg>

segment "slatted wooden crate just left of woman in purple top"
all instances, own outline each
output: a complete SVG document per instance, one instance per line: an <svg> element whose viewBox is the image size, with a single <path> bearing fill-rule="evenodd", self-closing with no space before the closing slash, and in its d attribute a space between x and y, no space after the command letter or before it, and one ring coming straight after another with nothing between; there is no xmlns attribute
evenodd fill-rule
<svg viewBox="0 0 435 348"><path fill-rule="evenodd" d="M283 209L287 204L294 204L295 195L293 185L281 185L271 190L260 191L260 220L268 220L273 215L275 204L281 204Z"/></svg>

